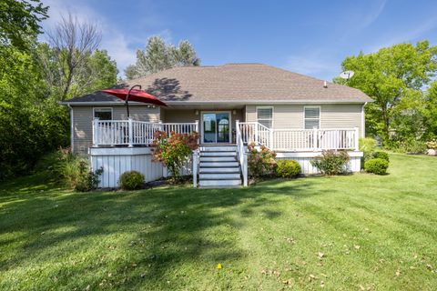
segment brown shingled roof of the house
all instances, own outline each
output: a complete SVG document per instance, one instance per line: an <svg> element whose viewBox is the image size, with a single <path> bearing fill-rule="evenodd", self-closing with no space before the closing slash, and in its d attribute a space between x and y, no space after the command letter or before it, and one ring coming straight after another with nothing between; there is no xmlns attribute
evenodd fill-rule
<svg viewBox="0 0 437 291"><path fill-rule="evenodd" d="M358 89L300 75L271 65L228 64L182 66L127 81L120 86L142 85L143 90L172 103L320 102L364 103L371 98ZM97 92L75 97L76 102L121 102Z"/></svg>

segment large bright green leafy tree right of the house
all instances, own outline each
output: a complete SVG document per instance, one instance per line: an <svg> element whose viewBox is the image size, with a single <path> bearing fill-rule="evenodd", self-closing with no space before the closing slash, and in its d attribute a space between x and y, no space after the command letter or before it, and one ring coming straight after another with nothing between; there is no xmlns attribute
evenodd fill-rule
<svg viewBox="0 0 437 291"><path fill-rule="evenodd" d="M355 75L349 81L336 78L334 82L361 89L375 100L366 106L367 129L388 143L391 129L397 130L400 112L407 113L399 109L416 104L422 96L422 87L435 75L436 57L437 47L430 46L428 41L392 45L376 53L346 57L341 67ZM398 105L401 107L397 108Z"/></svg>

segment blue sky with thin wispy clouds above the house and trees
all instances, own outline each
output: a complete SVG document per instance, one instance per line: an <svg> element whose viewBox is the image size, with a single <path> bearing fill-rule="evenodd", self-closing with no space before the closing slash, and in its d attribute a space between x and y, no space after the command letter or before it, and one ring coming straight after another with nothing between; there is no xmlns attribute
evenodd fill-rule
<svg viewBox="0 0 437 291"><path fill-rule="evenodd" d="M56 24L71 11L95 21L120 75L147 37L191 42L202 65L264 63L331 80L347 55L437 36L437 1L43 0Z"/></svg>

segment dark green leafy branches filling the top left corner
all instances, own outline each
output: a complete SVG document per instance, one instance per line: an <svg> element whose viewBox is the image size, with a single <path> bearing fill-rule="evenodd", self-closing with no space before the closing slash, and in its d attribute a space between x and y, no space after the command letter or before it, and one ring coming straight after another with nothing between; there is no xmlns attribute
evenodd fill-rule
<svg viewBox="0 0 437 291"><path fill-rule="evenodd" d="M35 3L35 5L30 2ZM39 0L0 2L0 44L25 50L41 33L39 23L47 18L48 7Z"/></svg>

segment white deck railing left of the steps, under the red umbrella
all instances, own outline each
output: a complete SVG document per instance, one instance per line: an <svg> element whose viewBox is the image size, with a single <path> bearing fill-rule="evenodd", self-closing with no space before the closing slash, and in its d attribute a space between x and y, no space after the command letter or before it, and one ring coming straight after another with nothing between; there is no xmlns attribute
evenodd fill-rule
<svg viewBox="0 0 437 291"><path fill-rule="evenodd" d="M198 132L198 121L193 123L153 123L128 120L99 120L93 121L94 146L150 146L154 134L165 131L168 135L189 134Z"/></svg>

